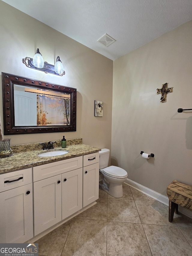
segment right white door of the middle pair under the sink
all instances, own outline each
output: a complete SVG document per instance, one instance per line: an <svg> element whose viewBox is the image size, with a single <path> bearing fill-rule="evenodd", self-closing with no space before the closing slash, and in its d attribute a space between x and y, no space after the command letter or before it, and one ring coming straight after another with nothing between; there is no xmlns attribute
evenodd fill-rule
<svg viewBox="0 0 192 256"><path fill-rule="evenodd" d="M82 209L82 168L62 174L62 219Z"/></svg>

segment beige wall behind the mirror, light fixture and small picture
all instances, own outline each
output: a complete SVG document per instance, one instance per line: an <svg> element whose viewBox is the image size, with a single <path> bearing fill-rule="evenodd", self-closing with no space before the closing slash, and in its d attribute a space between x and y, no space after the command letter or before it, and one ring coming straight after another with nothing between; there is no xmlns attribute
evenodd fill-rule
<svg viewBox="0 0 192 256"><path fill-rule="evenodd" d="M4 138L10 138L11 145L17 145L60 140L65 135L66 139L82 138L84 144L110 149L113 61L2 1L0 10L0 72L77 89L76 132L11 135ZM44 61L50 64L54 64L56 57L60 56L65 70L63 77L27 68L22 63L22 58L26 56L33 58L37 48ZM103 117L94 116L95 100L104 101ZM0 116L2 121L1 84Z"/></svg>

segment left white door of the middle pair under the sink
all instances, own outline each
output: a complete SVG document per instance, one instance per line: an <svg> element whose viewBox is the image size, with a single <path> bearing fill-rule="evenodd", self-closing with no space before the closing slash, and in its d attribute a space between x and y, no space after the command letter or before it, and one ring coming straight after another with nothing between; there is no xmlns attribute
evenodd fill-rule
<svg viewBox="0 0 192 256"><path fill-rule="evenodd" d="M61 174L34 182L35 236L61 221Z"/></svg>

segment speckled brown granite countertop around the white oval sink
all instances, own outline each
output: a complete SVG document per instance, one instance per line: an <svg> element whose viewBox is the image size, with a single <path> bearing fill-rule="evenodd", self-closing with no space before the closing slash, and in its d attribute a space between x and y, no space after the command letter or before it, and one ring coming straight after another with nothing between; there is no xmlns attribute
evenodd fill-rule
<svg viewBox="0 0 192 256"><path fill-rule="evenodd" d="M88 155L100 151L101 149L92 147L85 144L75 144L69 145L66 148L55 147L49 151L63 150L68 151L67 154L49 157L40 157L38 154L48 152L47 150L33 150L28 152L14 153L7 158L0 159L0 174L16 171L20 169L25 169L33 166L38 166L42 164L48 164L56 161L61 161L64 159L69 159L81 155Z"/></svg>

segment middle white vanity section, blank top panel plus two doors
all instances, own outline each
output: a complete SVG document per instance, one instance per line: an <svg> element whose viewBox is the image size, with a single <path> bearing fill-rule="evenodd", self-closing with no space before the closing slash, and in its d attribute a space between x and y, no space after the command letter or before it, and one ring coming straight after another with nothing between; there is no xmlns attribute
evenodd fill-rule
<svg viewBox="0 0 192 256"><path fill-rule="evenodd" d="M34 234L82 209L82 156L33 167Z"/></svg>

